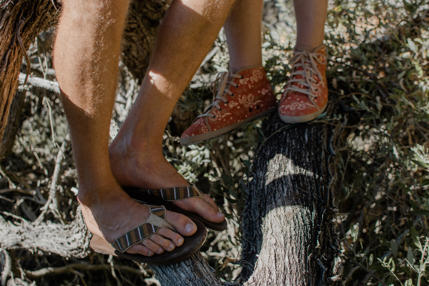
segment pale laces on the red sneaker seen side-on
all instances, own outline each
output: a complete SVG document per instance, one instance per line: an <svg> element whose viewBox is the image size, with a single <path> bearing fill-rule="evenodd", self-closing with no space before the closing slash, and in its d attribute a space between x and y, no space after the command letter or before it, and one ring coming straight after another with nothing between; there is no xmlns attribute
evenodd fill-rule
<svg viewBox="0 0 429 286"><path fill-rule="evenodd" d="M242 75L233 74L232 72L219 72L216 76L215 81L213 81L210 85L210 90L213 93L213 101L210 106L204 111L203 114L197 116L196 118L203 116L211 116L214 117L213 114L210 113L210 109L215 106L219 110L222 110L219 106L220 101L222 100L225 103L228 103L228 100L224 97L224 95L229 94L233 96L233 93L230 90L231 86L238 87L239 85L232 81L233 78L242 78ZM216 82L219 81L218 88L216 88ZM218 94L216 95L216 92Z"/></svg>

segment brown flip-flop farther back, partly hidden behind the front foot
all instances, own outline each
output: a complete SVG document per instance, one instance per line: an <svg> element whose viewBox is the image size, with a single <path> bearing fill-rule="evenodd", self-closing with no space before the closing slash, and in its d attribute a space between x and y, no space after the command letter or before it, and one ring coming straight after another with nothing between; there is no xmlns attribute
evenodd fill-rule
<svg viewBox="0 0 429 286"><path fill-rule="evenodd" d="M170 187L155 190L145 190L130 187L123 187L122 189L136 201L145 202L152 205L164 205L165 208L169 211L174 211L175 213L184 214L187 217L193 217L199 220L207 229L221 232L227 228L227 220L224 220L221 223L212 223L203 219L198 214L185 211L184 209L179 208L172 203L173 201L179 201L188 198L202 198L202 193L194 184L190 184L190 186Z"/></svg>

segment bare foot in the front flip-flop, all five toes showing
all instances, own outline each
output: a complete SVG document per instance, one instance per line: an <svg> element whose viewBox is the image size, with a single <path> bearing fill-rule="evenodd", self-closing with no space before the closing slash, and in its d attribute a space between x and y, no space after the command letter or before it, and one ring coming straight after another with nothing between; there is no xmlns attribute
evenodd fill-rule
<svg viewBox="0 0 429 286"><path fill-rule="evenodd" d="M99 188L85 189L79 186L78 200L89 231L109 243L144 223L150 215L147 206L130 199L114 180L106 181L106 184ZM174 226L178 233L162 228L140 244L130 247L127 252L152 256L165 250L172 251L183 244L181 235L190 236L196 232L196 225L184 215L167 211L166 221Z"/></svg>

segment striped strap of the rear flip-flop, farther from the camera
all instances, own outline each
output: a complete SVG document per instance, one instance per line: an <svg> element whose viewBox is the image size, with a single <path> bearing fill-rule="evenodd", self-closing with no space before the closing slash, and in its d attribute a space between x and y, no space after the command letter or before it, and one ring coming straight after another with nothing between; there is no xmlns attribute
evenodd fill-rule
<svg viewBox="0 0 429 286"><path fill-rule="evenodd" d="M190 184L189 186L140 191L168 202L202 197L202 193L194 184Z"/></svg>

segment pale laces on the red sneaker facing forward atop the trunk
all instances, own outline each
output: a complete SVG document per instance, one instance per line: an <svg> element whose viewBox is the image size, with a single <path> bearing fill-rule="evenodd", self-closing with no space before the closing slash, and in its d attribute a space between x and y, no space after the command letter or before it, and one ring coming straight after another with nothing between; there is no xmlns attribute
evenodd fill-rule
<svg viewBox="0 0 429 286"><path fill-rule="evenodd" d="M306 88L299 88L289 84L289 87L284 90L284 98L287 97L287 93L289 93L289 91L296 91L307 94L311 103L316 105L313 99L316 98L314 92L317 90L314 89L312 83L317 84L318 81L313 78L313 75L317 75L319 81L322 81L322 86L324 87L325 83L323 82L322 74L318 69L318 65L323 65L326 63L326 56L318 53L309 53L307 51L295 51L293 57L290 59L290 63L292 64L293 68L288 84L296 82L298 84L302 84ZM302 67L302 70L297 70L299 67ZM302 75L302 78L295 78L296 75Z"/></svg>

